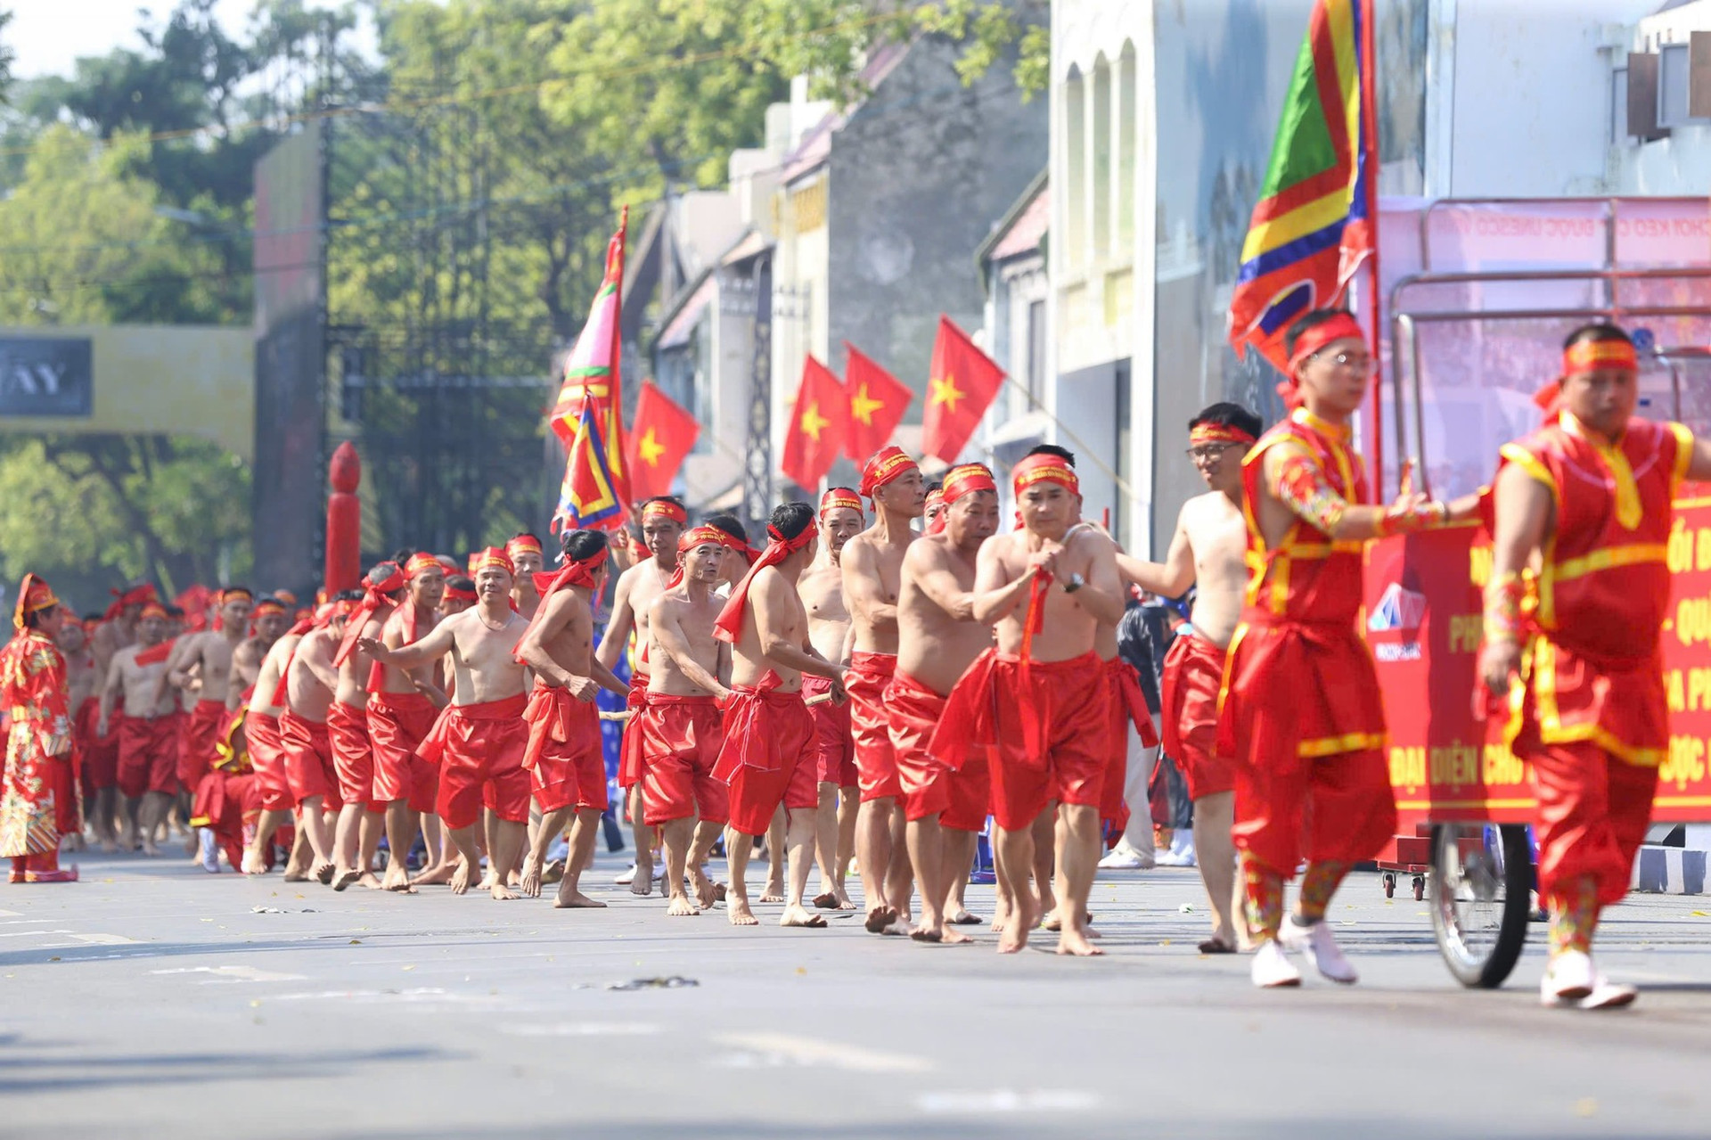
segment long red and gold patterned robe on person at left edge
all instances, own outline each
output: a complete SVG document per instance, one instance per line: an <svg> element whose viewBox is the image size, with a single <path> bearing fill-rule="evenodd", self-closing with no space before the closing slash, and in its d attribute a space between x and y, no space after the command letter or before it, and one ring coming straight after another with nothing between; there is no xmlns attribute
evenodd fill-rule
<svg viewBox="0 0 1711 1140"><path fill-rule="evenodd" d="M0 786L0 858L56 852L77 823L77 793L65 779L72 753L65 657L50 637L22 630L0 649L0 709L10 717ZM68 799L68 803L67 803Z"/></svg>

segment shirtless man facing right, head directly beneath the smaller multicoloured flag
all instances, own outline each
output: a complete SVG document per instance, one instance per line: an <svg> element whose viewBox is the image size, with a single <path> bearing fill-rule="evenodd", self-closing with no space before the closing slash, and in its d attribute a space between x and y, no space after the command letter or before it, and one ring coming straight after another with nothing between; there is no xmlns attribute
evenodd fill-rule
<svg viewBox="0 0 1711 1140"><path fill-rule="evenodd" d="M606 748L594 697L606 688L628 695L630 686L594 659L594 606L606 589L611 546L601 531L563 534L565 568L541 575L541 606L517 645L517 656L534 669L536 686L524 719L534 799L541 806L529 856L524 859L524 895L541 895L548 847L570 828L570 856L558 883L556 907L604 907L582 894L582 873L594 856L601 813L606 811Z"/></svg>

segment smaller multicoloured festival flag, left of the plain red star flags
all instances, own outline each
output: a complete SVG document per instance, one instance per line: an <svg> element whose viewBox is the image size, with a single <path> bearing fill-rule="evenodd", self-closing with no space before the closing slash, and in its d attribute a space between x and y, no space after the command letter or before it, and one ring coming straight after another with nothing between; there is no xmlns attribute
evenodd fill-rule
<svg viewBox="0 0 1711 1140"><path fill-rule="evenodd" d="M606 279L589 308L577 346L565 361L565 385L549 413L553 433L565 442L565 481L553 512L553 531L616 531L630 505L625 472L623 385L618 313L623 308L625 235L630 207L606 246Z"/></svg>

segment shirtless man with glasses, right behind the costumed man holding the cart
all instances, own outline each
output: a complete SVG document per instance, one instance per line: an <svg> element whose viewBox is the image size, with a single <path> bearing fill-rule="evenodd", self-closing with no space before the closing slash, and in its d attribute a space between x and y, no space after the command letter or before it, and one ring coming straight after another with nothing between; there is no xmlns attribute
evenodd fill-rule
<svg viewBox="0 0 1711 1140"><path fill-rule="evenodd" d="M1242 615L1247 587L1247 522L1242 517L1242 457L1259 438L1259 416L1240 404L1213 404L1187 425L1187 455L1206 493L1182 505L1163 563L1117 555L1117 570L1143 591L1181 597L1196 585L1187 628L1165 656L1162 719L1165 753L1182 767L1194 801L1194 851L1211 902L1211 938L1201 953L1234 953L1235 770L1220 757L1218 688L1223 654Z"/></svg>

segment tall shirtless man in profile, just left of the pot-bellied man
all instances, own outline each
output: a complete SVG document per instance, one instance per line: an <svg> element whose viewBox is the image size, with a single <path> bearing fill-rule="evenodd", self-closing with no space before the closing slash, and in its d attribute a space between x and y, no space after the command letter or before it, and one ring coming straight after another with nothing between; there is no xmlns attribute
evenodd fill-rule
<svg viewBox="0 0 1711 1140"><path fill-rule="evenodd" d="M844 601L854 630L849 692L861 777L856 820L856 861L861 866L867 931L907 935L909 870L905 820L898 810L903 787L897 775L885 686L897 671L897 596L903 555L915 541L912 527L926 507L921 467L897 447L886 447L862 467L861 491L873 500L873 525L844 544Z"/></svg>

